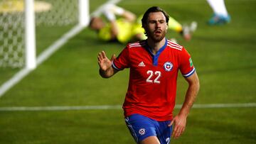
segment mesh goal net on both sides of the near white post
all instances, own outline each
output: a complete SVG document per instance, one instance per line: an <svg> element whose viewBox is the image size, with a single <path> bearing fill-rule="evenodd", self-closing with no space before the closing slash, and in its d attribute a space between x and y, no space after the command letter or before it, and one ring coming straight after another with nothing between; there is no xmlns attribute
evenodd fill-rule
<svg viewBox="0 0 256 144"><path fill-rule="evenodd" d="M0 67L26 65L25 1L0 0ZM34 0L36 27L61 28L78 24L80 1L85 0ZM55 32L48 32L48 35L51 33Z"/></svg>

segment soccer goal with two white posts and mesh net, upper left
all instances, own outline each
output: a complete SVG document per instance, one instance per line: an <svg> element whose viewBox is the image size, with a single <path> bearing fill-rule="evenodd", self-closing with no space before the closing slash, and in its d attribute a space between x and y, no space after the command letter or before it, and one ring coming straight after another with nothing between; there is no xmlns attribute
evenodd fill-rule
<svg viewBox="0 0 256 144"><path fill-rule="evenodd" d="M36 68L36 26L89 21L89 0L0 0L0 67Z"/></svg>

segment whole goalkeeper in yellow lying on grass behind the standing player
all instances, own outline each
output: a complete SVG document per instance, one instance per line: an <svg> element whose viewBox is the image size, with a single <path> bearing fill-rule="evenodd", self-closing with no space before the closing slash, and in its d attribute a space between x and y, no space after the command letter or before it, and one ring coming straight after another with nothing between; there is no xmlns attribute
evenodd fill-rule
<svg viewBox="0 0 256 144"><path fill-rule="evenodd" d="M114 4L102 6L101 13L105 15L109 22L106 23L100 16L92 16L89 25L92 30L97 31L97 36L101 40L129 43L146 39L144 28L142 28L141 16L137 18L131 11L122 9ZM170 17L169 29L180 33L185 40L190 40L191 32L196 30L196 23L192 23L190 27L182 26L178 21Z"/></svg>

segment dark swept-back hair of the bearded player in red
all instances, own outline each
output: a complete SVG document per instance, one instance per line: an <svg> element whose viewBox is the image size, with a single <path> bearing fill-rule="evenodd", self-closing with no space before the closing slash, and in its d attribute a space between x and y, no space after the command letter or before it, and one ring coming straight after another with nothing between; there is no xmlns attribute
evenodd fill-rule
<svg viewBox="0 0 256 144"><path fill-rule="evenodd" d="M166 11L164 11L161 8L159 8L159 6L152 6L151 8L146 10L146 12L143 15L142 27L144 27L143 25L146 24L147 18L149 17L149 13L154 13L154 12L162 12L164 14L164 16L166 17L166 23L169 22L169 15L168 15L168 13L166 13Z"/></svg>

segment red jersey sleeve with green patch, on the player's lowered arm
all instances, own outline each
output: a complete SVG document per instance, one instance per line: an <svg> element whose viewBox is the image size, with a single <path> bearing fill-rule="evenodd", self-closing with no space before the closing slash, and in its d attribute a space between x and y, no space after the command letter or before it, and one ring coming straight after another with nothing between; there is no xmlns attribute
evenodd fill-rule
<svg viewBox="0 0 256 144"><path fill-rule="evenodd" d="M189 55L185 48L183 48L181 51L179 69L181 70L183 77L189 77L196 71L191 60L191 55Z"/></svg>

